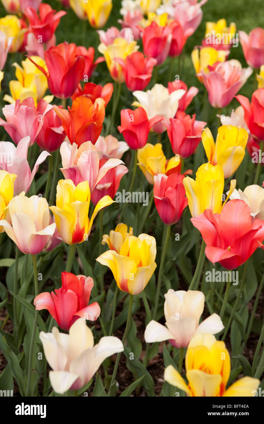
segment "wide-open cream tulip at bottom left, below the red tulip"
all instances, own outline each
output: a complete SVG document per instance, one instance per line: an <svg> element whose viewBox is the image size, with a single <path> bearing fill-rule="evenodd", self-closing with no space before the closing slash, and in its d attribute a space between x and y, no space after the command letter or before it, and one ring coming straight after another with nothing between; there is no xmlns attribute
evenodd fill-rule
<svg viewBox="0 0 264 424"><path fill-rule="evenodd" d="M121 340L113 336L102 337L94 346L92 331L82 318L72 324L69 335L53 327L52 333L41 331L39 338L53 370L50 383L60 394L86 385L107 357L124 350Z"/></svg>

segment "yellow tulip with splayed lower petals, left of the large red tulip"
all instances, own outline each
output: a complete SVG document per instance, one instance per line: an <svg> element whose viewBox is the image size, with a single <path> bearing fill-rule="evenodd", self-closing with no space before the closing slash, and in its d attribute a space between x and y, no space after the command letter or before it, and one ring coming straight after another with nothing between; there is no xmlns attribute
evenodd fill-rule
<svg viewBox="0 0 264 424"><path fill-rule="evenodd" d="M39 56L31 56L31 59L47 72L44 59ZM9 82L11 96L5 95L4 100L8 101L8 103L15 103L17 99L22 101L28 97L33 97L35 106L42 98L50 103L54 96L47 95L43 97L48 88L46 76L28 58L22 60L21 63L22 67L17 63L13 63L18 81Z"/></svg>

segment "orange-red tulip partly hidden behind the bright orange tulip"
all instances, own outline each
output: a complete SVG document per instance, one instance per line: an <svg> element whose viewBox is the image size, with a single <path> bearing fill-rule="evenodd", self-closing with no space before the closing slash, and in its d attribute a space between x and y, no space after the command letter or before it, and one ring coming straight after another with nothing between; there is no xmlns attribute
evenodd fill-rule
<svg viewBox="0 0 264 424"><path fill-rule="evenodd" d="M92 100L92 103L95 102L96 99L102 98L105 101L105 108L108 105L112 94L113 94L113 84L108 82L105 86L96 85L92 82L87 82L84 84L82 88L81 84L78 85L77 90L73 93L71 99L75 100L76 97L85 96Z"/></svg>

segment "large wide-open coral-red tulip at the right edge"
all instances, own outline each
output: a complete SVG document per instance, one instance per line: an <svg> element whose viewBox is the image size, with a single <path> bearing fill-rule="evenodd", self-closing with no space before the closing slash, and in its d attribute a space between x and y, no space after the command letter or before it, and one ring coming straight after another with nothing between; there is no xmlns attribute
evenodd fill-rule
<svg viewBox="0 0 264 424"><path fill-rule="evenodd" d="M230 200L220 214L210 209L191 218L206 243L209 261L232 270L242 265L264 239L264 221L251 220L250 207L243 200Z"/></svg>

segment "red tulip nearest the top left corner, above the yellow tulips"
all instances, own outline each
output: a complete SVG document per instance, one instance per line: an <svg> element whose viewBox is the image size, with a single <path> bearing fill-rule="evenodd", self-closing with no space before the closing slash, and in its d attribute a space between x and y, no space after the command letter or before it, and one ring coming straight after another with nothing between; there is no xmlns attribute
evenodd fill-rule
<svg viewBox="0 0 264 424"><path fill-rule="evenodd" d="M29 20L31 30L41 43L47 43L51 39L60 23L61 17L67 14L64 10L55 12L56 10L53 10L47 3L39 5L39 15L33 7L25 8L24 14Z"/></svg>

